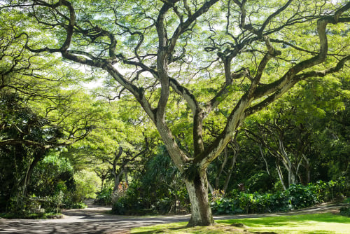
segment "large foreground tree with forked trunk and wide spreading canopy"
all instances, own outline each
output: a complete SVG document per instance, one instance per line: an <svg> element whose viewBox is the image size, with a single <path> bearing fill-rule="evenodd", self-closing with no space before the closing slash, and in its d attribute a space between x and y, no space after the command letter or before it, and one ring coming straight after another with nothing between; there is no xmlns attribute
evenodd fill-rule
<svg viewBox="0 0 350 234"><path fill-rule="evenodd" d="M345 67L349 8L341 0L18 0L0 10L36 23L16 31L31 53L104 70L116 96L134 95L185 177L189 226L208 226L208 165L247 116L298 81ZM207 141L213 116L225 121ZM192 131L188 148L173 132L179 119Z"/></svg>

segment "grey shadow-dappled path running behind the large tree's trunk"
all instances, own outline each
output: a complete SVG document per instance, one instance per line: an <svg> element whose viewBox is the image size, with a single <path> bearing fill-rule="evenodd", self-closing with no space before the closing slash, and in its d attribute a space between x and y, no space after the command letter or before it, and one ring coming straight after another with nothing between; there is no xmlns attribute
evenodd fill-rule
<svg viewBox="0 0 350 234"><path fill-rule="evenodd" d="M336 212L342 205L328 204L299 209L295 212L274 214L242 214L235 216L214 216L215 219L243 219L261 216L280 216L292 214L315 214ZM131 228L188 221L190 215L173 216L118 216L106 214L111 207L89 206L86 209L69 209L62 212L63 219L0 219L1 234L31 233L129 233Z"/></svg>

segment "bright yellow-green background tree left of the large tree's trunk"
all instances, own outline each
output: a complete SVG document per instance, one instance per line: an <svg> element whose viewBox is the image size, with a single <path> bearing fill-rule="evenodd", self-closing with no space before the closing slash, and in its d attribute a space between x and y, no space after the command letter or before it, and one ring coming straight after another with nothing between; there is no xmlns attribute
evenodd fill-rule
<svg viewBox="0 0 350 234"><path fill-rule="evenodd" d="M128 184L128 174L139 170L140 161L147 158L151 147L148 142L151 129L147 123L141 124L139 106L127 98L123 97L123 102L104 102L106 118L64 153L76 170L90 167L104 180L112 179L114 192L122 179Z"/></svg>

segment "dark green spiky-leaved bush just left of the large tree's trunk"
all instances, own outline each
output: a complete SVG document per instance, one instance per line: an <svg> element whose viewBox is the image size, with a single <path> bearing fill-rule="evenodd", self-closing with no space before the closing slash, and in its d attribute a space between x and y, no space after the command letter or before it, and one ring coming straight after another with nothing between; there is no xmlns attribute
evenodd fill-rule
<svg viewBox="0 0 350 234"><path fill-rule="evenodd" d="M176 200L188 204L186 187L165 146L159 146L157 154L146 162L145 171L135 174L125 195L113 203L113 212L166 214L176 211Z"/></svg>

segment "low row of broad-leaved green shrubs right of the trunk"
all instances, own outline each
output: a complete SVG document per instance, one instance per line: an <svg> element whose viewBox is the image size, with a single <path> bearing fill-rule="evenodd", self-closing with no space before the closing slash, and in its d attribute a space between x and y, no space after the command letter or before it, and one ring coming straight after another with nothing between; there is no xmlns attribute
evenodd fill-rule
<svg viewBox="0 0 350 234"><path fill-rule="evenodd" d="M286 212L292 209L311 207L321 202L328 202L342 197L344 178L325 183L318 181L302 186L293 184L286 191L276 193L238 193L230 194L231 198L221 198L211 202L214 214L248 214L267 212Z"/></svg>

